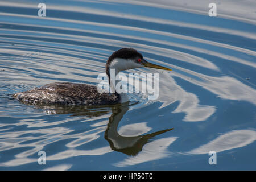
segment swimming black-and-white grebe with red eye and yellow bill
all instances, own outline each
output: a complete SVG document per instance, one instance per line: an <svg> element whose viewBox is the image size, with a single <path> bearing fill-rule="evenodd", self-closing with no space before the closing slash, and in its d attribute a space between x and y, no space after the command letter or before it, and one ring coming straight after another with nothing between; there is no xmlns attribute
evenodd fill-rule
<svg viewBox="0 0 256 182"><path fill-rule="evenodd" d="M110 69L115 69L115 75L117 75L119 71L142 67L171 70L160 65L148 63L143 59L141 53L135 49L122 48L114 52L106 63L109 85L111 85ZM69 82L47 84L40 88L13 94L13 97L26 104L37 105L110 105L129 101L125 93L119 94L115 92L115 89L113 94L100 93L97 86Z"/></svg>

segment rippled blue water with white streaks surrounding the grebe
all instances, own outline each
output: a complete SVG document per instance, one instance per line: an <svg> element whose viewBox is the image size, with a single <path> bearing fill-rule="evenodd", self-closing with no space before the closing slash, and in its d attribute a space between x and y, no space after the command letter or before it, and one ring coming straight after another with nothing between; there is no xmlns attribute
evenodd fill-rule
<svg viewBox="0 0 256 182"><path fill-rule="evenodd" d="M256 169L255 16L142 1L44 3L42 18L38 2L0 3L1 170ZM28 106L10 96L51 82L96 85L122 47L173 69L125 72L159 73L158 100L135 93L121 106Z"/></svg>

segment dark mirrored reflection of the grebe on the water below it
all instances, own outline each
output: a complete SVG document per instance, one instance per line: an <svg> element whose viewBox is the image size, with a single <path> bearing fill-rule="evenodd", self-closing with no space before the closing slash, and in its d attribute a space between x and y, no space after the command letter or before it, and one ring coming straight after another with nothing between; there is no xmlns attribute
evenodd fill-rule
<svg viewBox="0 0 256 182"><path fill-rule="evenodd" d="M131 103L131 102L130 102ZM83 105L50 105L36 106L38 109L43 109L48 114L72 114L71 116L84 116L86 118L100 117L112 111L109 118L108 126L105 130L105 139L109 142L110 148L114 151L122 152L123 154L135 156L140 151L144 144L156 135L166 133L172 129L160 130L151 134L126 137L119 135L118 125L123 115L129 110L127 103L117 104L112 106L83 106Z"/></svg>

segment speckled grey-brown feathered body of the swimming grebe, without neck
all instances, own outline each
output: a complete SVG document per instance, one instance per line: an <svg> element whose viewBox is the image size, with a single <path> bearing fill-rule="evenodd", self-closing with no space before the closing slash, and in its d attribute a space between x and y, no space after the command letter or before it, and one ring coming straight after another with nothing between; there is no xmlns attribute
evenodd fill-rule
<svg viewBox="0 0 256 182"><path fill-rule="evenodd" d="M57 82L20 92L14 98L26 104L112 105L119 102L118 94L99 93L87 84Z"/></svg>

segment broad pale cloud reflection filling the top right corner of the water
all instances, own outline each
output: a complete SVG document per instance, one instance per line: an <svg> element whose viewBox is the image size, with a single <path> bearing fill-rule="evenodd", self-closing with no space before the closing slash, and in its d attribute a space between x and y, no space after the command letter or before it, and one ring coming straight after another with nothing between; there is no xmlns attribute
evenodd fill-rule
<svg viewBox="0 0 256 182"><path fill-rule="evenodd" d="M135 5L144 5L152 7L160 7L164 9L172 9L179 11L187 11L197 14L208 15L208 5L212 3L212 0L102 0L106 2L124 2ZM243 22L249 22L256 24L254 7L256 5L254 0L222 0L216 2L217 4L217 16L228 19L235 19ZM236 10L236 11L234 11Z"/></svg>

